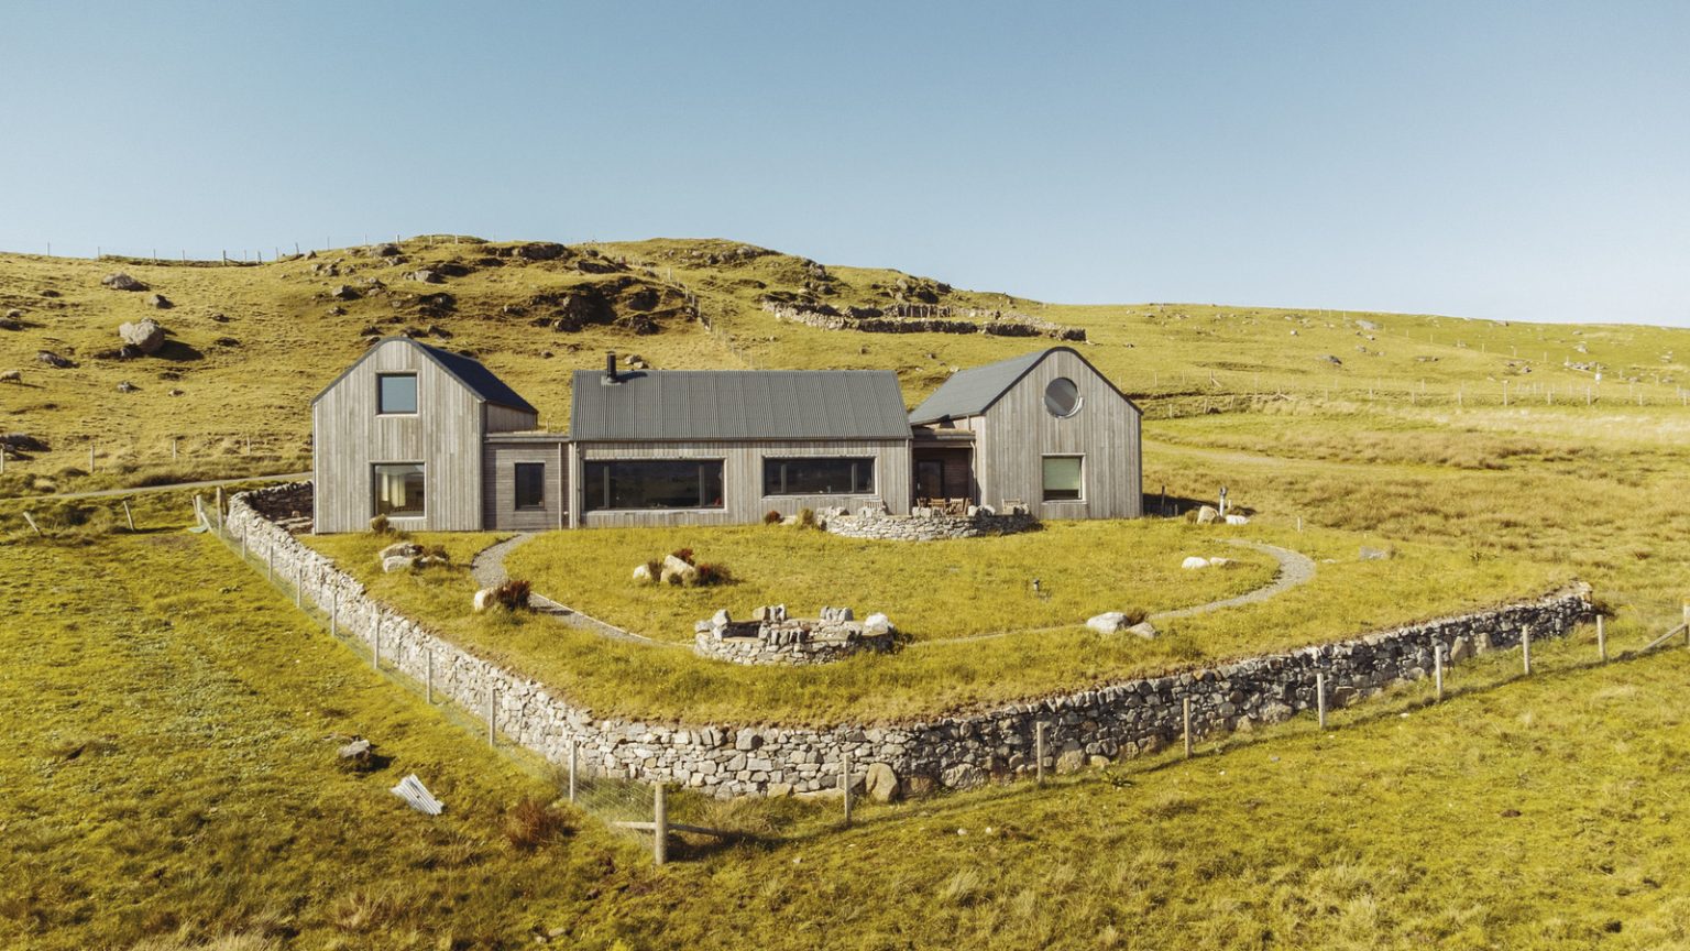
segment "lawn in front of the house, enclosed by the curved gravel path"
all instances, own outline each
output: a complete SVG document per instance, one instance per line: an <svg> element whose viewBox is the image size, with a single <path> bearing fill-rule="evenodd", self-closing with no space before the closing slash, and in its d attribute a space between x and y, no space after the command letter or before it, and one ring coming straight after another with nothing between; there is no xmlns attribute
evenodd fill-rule
<svg viewBox="0 0 1690 951"><path fill-rule="evenodd" d="M727 565L733 584L639 585L634 565L691 548ZM1232 558L1190 572L1186 555ZM625 629L693 641L693 623L727 607L749 618L786 604L815 618L825 604L859 618L886 613L914 640L1073 626L1104 611L1164 611L1232 597L1273 580L1276 562L1215 533L1164 521L1051 523L1041 531L911 545L859 541L794 526L551 531L507 560L512 577ZM1039 592L1033 591L1039 580Z"/></svg>

